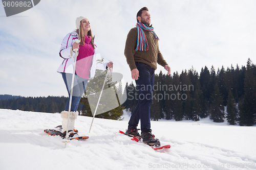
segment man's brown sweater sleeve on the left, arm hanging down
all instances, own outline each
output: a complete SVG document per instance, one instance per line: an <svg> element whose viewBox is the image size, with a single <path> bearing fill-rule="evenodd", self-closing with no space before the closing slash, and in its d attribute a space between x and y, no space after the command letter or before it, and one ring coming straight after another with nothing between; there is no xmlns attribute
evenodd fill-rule
<svg viewBox="0 0 256 170"><path fill-rule="evenodd" d="M127 64L129 65L130 69L133 70L136 67L134 61L134 54L135 54L135 47L137 44L137 31L136 28L131 29L127 35L125 48L124 48L124 55L126 57Z"/></svg>

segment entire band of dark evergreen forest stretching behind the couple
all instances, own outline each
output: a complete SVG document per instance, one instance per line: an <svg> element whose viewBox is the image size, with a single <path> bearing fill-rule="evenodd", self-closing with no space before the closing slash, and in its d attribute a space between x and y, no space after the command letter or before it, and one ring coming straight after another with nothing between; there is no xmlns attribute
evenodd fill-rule
<svg viewBox="0 0 256 170"><path fill-rule="evenodd" d="M94 79L93 87L100 90L104 77L102 75L102 78ZM108 86L110 87L110 83L106 83L106 88ZM121 85L119 88L122 88ZM210 69L205 66L200 74L194 68L183 70L180 74L174 72L169 76L160 71L155 74L152 88L152 120L198 121L209 116L216 123L224 122L224 118L230 125L252 126L256 123L256 66L250 59L241 68L231 65L226 69L222 66L216 70L214 66ZM139 95L133 83L126 83L125 90L127 100L123 104L119 103L119 107L96 117L120 120L123 109L132 112L138 99L143 96ZM0 97L0 108L48 113L61 112L68 100L64 96ZM86 94L81 98L78 110L81 115L92 116Z"/></svg>

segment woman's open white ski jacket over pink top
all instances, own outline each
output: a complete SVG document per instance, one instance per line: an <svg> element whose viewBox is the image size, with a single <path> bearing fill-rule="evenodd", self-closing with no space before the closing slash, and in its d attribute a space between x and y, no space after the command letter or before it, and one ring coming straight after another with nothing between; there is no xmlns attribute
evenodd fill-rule
<svg viewBox="0 0 256 170"><path fill-rule="evenodd" d="M76 32L71 32L67 34L66 37L62 40L59 50L59 56L64 60L57 69L57 72L66 72L73 74L75 52L73 52L72 50L72 44L75 42L76 39L78 39L78 34ZM101 63L97 61L98 55L99 54L97 53L97 46L95 45L89 80L93 79L96 69L106 69L107 63Z"/></svg>

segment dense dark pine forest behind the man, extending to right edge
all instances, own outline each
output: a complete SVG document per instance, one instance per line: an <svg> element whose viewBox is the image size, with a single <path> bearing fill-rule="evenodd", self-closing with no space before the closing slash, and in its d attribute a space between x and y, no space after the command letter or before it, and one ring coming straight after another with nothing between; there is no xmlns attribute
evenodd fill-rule
<svg viewBox="0 0 256 170"><path fill-rule="evenodd" d="M140 98L133 83L126 84L126 109L133 111ZM141 96L143 98L143 96ZM256 66L250 59L241 68L216 69L206 66L200 75L191 68L181 74L155 75L151 118L191 119L198 121L209 116L216 123L252 126L256 120Z"/></svg>

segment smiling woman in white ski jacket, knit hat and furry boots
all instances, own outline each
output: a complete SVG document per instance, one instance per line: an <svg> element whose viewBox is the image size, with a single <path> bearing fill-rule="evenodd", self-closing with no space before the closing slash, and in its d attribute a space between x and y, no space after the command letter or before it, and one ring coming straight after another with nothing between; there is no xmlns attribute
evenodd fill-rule
<svg viewBox="0 0 256 170"><path fill-rule="evenodd" d="M80 43L75 42L75 40L80 40ZM69 113L69 103L70 103L70 90L74 69L75 52L74 49L77 48L78 55L76 59L76 69L75 78L73 86L72 104L70 112L70 121L68 127L68 113ZM77 118L78 104L81 96L86 89L87 82L93 79L97 69L107 69L113 68L113 63L99 63L97 62L97 46L94 43L94 37L92 35L92 30L90 26L89 19L83 16L76 18L76 30L67 34L62 40L59 56L64 60L58 68L58 72L62 74L62 78L65 82L69 93L69 100L66 104L65 111L61 112L62 117L62 138L66 137L66 132L68 131L69 137L78 136L74 130L75 119ZM74 136L76 135L76 136Z"/></svg>

